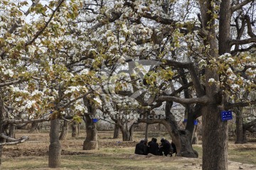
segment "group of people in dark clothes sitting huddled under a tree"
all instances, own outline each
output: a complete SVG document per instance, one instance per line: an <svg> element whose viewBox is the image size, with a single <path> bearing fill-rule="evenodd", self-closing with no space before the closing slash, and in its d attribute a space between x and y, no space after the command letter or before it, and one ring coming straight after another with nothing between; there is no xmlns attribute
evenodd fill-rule
<svg viewBox="0 0 256 170"><path fill-rule="evenodd" d="M174 142L169 142L168 140L162 138L161 139L161 145L157 143L156 138L152 138L150 142L147 142L147 140L141 140L135 147L135 154L154 154L154 155L164 155L168 156L170 155L172 157L172 154L177 154L176 146L174 145Z"/></svg>

